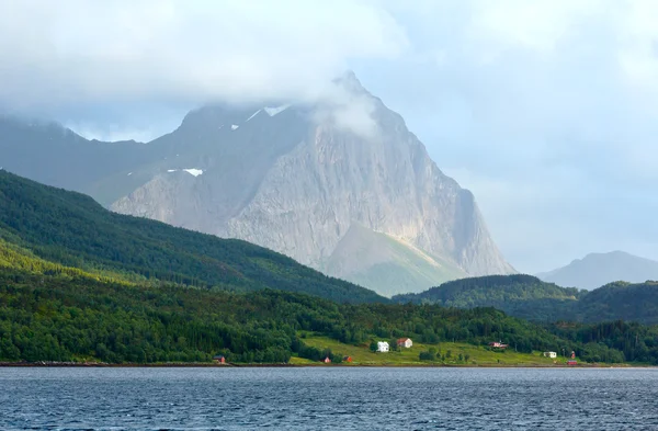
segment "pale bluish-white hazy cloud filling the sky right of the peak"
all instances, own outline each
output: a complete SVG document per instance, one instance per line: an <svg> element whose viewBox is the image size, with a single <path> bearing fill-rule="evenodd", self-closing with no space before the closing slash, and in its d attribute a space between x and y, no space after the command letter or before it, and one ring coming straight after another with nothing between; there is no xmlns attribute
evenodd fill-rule
<svg viewBox="0 0 658 431"><path fill-rule="evenodd" d="M396 10L411 55L372 89L474 191L511 263L658 259L658 2L421 3Z"/></svg>

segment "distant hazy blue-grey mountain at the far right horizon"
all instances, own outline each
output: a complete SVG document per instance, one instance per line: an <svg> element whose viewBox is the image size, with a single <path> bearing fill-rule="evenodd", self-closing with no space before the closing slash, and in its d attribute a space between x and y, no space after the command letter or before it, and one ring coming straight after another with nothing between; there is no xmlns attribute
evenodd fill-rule
<svg viewBox="0 0 658 431"><path fill-rule="evenodd" d="M591 253L537 276L560 286L592 290L617 281L642 283L658 280L658 262L623 251Z"/></svg>

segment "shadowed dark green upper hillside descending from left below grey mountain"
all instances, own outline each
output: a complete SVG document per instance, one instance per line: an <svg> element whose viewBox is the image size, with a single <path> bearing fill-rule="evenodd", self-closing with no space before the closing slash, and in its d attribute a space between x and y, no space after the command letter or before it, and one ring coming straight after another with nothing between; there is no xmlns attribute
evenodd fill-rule
<svg viewBox="0 0 658 431"><path fill-rule="evenodd" d="M241 240L114 214L91 197L0 170L0 238L53 263L125 280L236 291L279 288L337 302L386 300Z"/></svg>

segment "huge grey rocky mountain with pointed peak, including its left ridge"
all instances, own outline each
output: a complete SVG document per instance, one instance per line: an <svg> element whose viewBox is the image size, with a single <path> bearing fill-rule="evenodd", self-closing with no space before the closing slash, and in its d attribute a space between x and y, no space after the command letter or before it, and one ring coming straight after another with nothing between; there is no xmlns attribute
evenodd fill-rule
<svg viewBox="0 0 658 431"><path fill-rule="evenodd" d="M146 145L36 128L1 139L2 151L30 143L3 152L5 168L117 213L258 243L381 294L514 272L473 194L352 73L314 103L201 107ZM48 156L33 167L43 146Z"/></svg>

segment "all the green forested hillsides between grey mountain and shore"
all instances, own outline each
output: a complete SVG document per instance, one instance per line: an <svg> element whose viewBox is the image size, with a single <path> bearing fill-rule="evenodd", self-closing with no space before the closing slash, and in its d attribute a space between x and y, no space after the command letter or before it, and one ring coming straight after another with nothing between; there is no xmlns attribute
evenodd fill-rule
<svg viewBox="0 0 658 431"><path fill-rule="evenodd" d="M503 340L517 352L658 364L658 327L619 317L656 315L650 283L583 293L480 277L392 302L248 242L113 214L1 170L0 202L2 362L340 362L341 352L305 342L311 336L365 349L400 337Z"/></svg>

